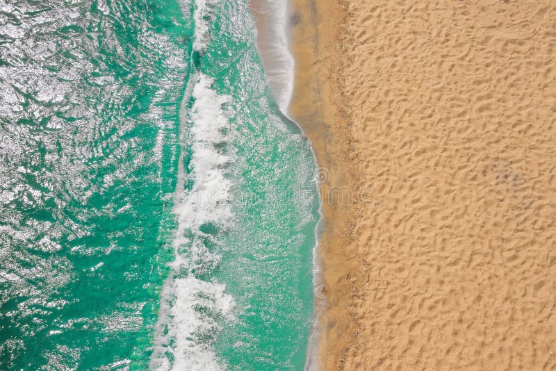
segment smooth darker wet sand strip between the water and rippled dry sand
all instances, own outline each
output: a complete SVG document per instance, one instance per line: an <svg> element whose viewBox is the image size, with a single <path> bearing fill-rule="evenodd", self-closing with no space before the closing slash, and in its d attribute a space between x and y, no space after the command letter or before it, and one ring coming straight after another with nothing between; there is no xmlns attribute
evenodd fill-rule
<svg viewBox="0 0 556 371"><path fill-rule="evenodd" d="M359 265L353 234L357 163L350 157L352 132L338 73L345 63L338 58L343 54L338 31L344 12L334 1L299 0L291 2L290 15L295 83L289 113L316 154L323 216L318 263L323 273L320 295L325 299L316 302L318 326L311 339L316 344L309 354L309 366L312 370L334 369L357 332L350 306L354 299L352 274Z"/></svg>

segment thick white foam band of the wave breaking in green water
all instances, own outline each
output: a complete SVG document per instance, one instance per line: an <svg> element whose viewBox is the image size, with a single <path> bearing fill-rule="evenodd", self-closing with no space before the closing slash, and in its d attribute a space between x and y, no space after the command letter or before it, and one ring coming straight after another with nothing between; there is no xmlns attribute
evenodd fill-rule
<svg viewBox="0 0 556 371"><path fill-rule="evenodd" d="M210 6L215 3L211 0L195 3L195 51L206 48ZM224 365L219 363L210 339L221 328L219 318L234 320L235 303L225 292L226 286L196 277L210 272L220 262L220 256L210 252L203 239L209 238L216 244L219 241L203 233L201 227L211 224L225 229L234 217L229 204L231 182L225 176L231 158L218 151L218 145L227 141L223 129L227 129L229 121L222 105L229 97L216 94L212 83L204 74L191 76L181 105L181 145L182 149L190 148L191 156L188 169L183 167L183 154L180 158L173 209L178 223L172 243L175 260L161 292L152 370L222 369ZM195 102L188 110L190 97ZM193 186L188 190L191 182Z"/></svg>

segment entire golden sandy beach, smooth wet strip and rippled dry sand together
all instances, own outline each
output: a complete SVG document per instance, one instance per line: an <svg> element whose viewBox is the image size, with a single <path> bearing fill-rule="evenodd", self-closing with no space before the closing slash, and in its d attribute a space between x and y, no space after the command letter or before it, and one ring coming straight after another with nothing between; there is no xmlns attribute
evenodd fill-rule
<svg viewBox="0 0 556 371"><path fill-rule="evenodd" d="M321 368L556 369L556 2L291 12L291 115L327 169Z"/></svg>

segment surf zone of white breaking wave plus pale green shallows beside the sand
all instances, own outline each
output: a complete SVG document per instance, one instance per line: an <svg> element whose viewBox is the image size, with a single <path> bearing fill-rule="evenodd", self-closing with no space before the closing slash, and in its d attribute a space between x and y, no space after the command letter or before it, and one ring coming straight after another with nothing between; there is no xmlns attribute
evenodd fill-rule
<svg viewBox="0 0 556 371"><path fill-rule="evenodd" d="M310 144L282 112L293 67L272 88L247 1L198 1L190 13L175 261L151 366L302 368L320 217Z"/></svg>

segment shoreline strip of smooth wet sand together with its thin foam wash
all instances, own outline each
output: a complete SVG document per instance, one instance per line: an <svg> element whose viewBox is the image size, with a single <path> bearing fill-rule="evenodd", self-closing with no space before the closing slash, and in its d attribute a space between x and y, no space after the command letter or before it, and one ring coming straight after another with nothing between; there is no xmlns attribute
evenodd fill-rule
<svg viewBox="0 0 556 371"><path fill-rule="evenodd" d="M267 72L270 69L268 79L275 94L283 93L284 85L288 83L272 80L288 74L272 57L286 60L279 55L282 52L293 59L293 89L287 110L281 109L308 138L319 169L321 219L316 226L316 236L320 238L313 249L315 309L305 370L335 370L352 345L357 329L347 308L354 294L352 272L355 270L352 265L356 260L348 258L356 254L352 244L354 208L343 204L340 199L329 197L335 188L354 189L352 173L355 167L350 161L348 147L352 140L337 74L341 63L338 38L345 16L335 2L288 0L286 6L281 5L286 8L286 19L279 19L284 28L279 30L272 26L277 12L269 12L265 8L268 5L250 2L259 54ZM270 8L275 6L275 3L270 4ZM286 45L280 35L277 37L277 32L286 35ZM323 358L325 354L327 356Z"/></svg>

